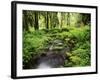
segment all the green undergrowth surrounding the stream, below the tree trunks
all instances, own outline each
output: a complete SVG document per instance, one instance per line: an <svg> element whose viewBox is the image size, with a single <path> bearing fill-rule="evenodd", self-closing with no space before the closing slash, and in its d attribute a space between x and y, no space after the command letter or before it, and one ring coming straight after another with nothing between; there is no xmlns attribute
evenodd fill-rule
<svg viewBox="0 0 100 80"><path fill-rule="evenodd" d="M23 33L23 63L28 63L33 56L40 56L54 40L61 40L64 44L55 48L69 47L66 52L64 67L89 66L90 27L70 27L63 29L41 29Z"/></svg>

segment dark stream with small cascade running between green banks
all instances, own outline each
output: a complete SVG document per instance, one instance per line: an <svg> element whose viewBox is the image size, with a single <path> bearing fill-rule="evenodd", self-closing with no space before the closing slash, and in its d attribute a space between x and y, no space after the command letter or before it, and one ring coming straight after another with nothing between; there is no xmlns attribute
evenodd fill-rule
<svg viewBox="0 0 100 80"><path fill-rule="evenodd" d="M34 64L31 64L30 68L43 69L63 67L64 61L67 58L65 53L69 51L69 48L63 45L62 40L56 39L52 41L48 50L35 60L35 67Z"/></svg>

